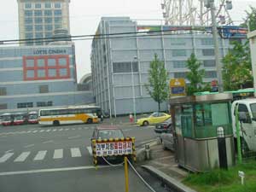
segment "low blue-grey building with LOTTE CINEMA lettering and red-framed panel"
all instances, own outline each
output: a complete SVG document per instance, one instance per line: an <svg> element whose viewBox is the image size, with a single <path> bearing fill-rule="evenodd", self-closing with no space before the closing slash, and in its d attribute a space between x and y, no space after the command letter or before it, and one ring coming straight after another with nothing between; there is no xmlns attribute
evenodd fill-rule
<svg viewBox="0 0 256 192"><path fill-rule="evenodd" d="M0 48L0 113L95 102L76 77L73 44Z"/></svg>

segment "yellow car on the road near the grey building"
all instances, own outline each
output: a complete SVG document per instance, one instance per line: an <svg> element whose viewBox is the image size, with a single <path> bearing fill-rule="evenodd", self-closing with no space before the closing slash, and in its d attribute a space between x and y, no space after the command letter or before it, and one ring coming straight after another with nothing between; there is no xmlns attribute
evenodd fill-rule
<svg viewBox="0 0 256 192"><path fill-rule="evenodd" d="M164 122L166 119L171 118L170 114L154 112L150 114L147 118L137 119L137 125L148 126L151 124L158 124Z"/></svg>

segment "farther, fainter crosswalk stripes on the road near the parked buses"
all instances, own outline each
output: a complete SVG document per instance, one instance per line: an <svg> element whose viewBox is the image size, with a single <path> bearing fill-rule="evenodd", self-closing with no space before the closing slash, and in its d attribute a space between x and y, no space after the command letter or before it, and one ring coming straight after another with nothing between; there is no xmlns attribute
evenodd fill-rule
<svg viewBox="0 0 256 192"><path fill-rule="evenodd" d="M57 131L82 131L82 130L93 130L95 129L94 126L91 127L76 127L76 128L59 128L59 129L48 129L48 128L39 128L38 130L27 130L27 131L8 131L8 132L1 132L1 136L10 136L10 135L21 135L21 134L35 134L35 133L49 133L49 132L57 132Z"/></svg>

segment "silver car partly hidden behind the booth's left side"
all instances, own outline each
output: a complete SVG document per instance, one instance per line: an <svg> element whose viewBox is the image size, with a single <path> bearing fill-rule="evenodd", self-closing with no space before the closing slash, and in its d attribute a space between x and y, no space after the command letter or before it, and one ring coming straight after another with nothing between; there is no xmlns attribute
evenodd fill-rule
<svg viewBox="0 0 256 192"><path fill-rule="evenodd" d="M172 125L169 129L160 134L160 141L165 150L170 149L172 151L175 151Z"/></svg>

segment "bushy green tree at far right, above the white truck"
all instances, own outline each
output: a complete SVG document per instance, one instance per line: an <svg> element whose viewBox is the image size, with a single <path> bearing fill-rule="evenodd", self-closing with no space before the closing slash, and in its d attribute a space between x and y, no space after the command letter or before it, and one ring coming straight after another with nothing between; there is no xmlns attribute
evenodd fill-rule
<svg viewBox="0 0 256 192"><path fill-rule="evenodd" d="M241 44L232 42L233 49L224 56L222 62L224 90L239 90L253 85L252 63L248 42Z"/></svg>

